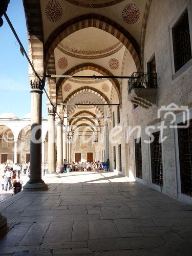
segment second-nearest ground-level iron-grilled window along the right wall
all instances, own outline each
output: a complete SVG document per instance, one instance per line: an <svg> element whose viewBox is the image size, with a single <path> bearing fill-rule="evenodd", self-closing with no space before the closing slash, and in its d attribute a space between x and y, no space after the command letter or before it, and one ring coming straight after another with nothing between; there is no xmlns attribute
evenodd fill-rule
<svg viewBox="0 0 192 256"><path fill-rule="evenodd" d="M160 132L153 133L154 142L151 143L152 183L163 186L162 146L159 135Z"/></svg>

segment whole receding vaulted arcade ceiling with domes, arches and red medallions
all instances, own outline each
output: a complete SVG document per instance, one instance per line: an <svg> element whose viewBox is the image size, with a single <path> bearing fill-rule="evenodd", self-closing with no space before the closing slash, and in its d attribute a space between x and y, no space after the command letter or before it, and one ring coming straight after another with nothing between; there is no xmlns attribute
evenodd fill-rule
<svg viewBox="0 0 192 256"><path fill-rule="evenodd" d="M135 71L142 70L142 51L147 16L152 0L24 0L29 33L29 53L39 72L55 75L121 75L128 51ZM51 84L51 85L50 85ZM117 94L117 79L56 78L48 83L53 102L70 117L97 116L110 109L91 103L110 103ZM51 91L52 90L52 91ZM90 105L74 106L87 102ZM90 114L89 114L90 115ZM91 119L90 119L91 120ZM76 124L92 123L79 119ZM94 119L92 119L94 120Z"/></svg>

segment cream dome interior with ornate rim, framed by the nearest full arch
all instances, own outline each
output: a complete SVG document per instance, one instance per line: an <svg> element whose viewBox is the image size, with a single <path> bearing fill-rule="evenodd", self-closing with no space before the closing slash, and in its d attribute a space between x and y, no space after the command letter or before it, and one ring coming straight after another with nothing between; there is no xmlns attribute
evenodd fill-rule
<svg viewBox="0 0 192 256"><path fill-rule="evenodd" d="M108 57L122 47L123 44L116 37L92 27L74 32L62 40L57 49L71 57L97 59Z"/></svg>

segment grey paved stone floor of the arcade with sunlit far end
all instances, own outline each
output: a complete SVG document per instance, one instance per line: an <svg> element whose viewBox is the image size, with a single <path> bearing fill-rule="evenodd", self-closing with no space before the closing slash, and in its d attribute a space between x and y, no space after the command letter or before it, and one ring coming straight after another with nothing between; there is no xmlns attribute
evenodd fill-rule
<svg viewBox="0 0 192 256"><path fill-rule="evenodd" d="M1 201L0 255L191 255L191 206L114 173L45 181Z"/></svg>

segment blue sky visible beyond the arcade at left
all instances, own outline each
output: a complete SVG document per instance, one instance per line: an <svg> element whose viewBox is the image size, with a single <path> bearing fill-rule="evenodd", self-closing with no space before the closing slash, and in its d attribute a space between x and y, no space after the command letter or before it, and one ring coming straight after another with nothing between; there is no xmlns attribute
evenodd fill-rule
<svg viewBox="0 0 192 256"><path fill-rule="evenodd" d="M22 0L10 0L7 15L25 50L28 52L27 27ZM0 114L14 113L18 118L31 111L28 61L20 53L5 17L0 28ZM47 118L46 97L42 95L42 116Z"/></svg>

